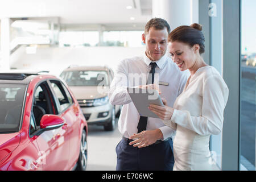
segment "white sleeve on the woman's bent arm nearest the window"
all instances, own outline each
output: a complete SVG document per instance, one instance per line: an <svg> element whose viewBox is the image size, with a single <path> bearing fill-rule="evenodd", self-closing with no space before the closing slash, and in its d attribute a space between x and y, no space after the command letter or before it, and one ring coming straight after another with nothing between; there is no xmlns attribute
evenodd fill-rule
<svg viewBox="0 0 256 182"><path fill-rule="evenodd" d="M200 117L194 117L187 110L174 110L171 120L200 135L217 135L222 131L224 108L228 100L228 87L219 75L208 77L203 85L203 105Z"/></svg>

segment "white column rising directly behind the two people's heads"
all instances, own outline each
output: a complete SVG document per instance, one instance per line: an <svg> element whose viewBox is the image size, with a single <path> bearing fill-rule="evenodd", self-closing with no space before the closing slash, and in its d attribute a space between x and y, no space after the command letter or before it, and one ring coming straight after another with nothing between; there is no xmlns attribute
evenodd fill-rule
<svg viewBox="0 0 256 182"><path fill-rule="evenodd" d="M198 0L152 0L152 18L163 18L171 30L199 22Z"/></svg>

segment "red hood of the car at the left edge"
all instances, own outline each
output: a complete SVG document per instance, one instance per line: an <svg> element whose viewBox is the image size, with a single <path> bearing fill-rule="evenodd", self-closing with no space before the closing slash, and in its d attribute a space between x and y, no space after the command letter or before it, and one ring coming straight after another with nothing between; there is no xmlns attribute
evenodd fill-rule
<svg viewBox="0 0 256 182"><path fill-rule="evenodd" d="M20 133L0 134L0 162L19 146Z"/></svg>

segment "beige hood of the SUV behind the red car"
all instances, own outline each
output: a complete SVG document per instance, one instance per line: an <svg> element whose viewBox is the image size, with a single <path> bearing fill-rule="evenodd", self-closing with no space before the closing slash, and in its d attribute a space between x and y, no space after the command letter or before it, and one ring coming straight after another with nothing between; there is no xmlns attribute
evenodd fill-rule
<svg viewBox="0 0 256 182"><path fill-rule="evenodd" d="M77 100L95 99L108 96L108 86L69 86Z"/></svg>

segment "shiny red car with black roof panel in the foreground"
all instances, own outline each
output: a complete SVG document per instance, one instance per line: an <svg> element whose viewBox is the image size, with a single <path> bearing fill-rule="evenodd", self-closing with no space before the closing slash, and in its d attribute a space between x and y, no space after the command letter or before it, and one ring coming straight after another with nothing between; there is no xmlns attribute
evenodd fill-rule
<svg viewBox="0 0 256 182"><path fill-rule="evenodd" d="M0 73L0 171L85 170L87 133L61 78Z"/></svg>

